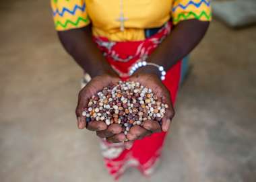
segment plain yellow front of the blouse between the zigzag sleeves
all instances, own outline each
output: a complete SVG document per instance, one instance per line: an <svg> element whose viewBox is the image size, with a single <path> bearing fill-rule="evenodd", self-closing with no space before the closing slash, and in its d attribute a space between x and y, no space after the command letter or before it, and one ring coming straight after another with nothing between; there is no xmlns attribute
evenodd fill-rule
<svg viewBox="0 0 256 182"><path fill-rule="evenodd" d="M94 35L110 40L143 40L145 28L160 27L170 19L171 7L172 0L86 0ZM118 21L121 13L127 19L124 31Z"/></svg>

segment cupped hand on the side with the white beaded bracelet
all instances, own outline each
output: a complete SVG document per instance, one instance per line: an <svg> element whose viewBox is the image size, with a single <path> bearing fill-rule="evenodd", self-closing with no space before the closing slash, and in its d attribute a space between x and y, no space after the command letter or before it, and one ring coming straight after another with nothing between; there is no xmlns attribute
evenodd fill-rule
<svg viewBox="0 0 256 182"><path fill-rule="evenodd" d="M145 136L149 136L155 132L167 132L170 126L170 122L174 117L174 109L172 106L172 102L170 99L170 92L168 89L162 84L162 81L158 78L158 76L147 73L137 74L129 79L129 81L136 81L141 83L144 87L148 87L154 91L154 93L162 98L162 101L168 104L168 108L166 109L166 113L164 114L164 118L162 118L162 126L160 126L159 122L148 120L143 122L142 126L133 126L129 130L127 134L128 140L137 140L144 138Z"/></svg>

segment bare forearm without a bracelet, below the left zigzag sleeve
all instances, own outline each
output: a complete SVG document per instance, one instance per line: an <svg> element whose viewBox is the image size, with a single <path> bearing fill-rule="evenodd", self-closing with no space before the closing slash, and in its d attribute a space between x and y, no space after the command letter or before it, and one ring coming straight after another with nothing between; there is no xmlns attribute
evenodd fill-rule
<svg viewBox="0 0 256 182"><path fill-rule="evenodd" d="M102 74L115 75L115 71L93 42L90 26L58 32L58 36L65 50L91 77Z"/></svg>

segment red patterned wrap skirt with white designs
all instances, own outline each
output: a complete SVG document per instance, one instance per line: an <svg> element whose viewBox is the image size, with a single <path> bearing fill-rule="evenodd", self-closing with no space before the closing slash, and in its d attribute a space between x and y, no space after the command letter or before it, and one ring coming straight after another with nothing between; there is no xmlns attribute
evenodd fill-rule
<svg viewBox="0 0 256 182"><path fill-rule="evenodd" d="M143 41L110 42L106 38L94 38L94 41L113 69L121 77L127 78L131 66L139 60L146 60L169 34L170 28L171 24L168 23L157 34ZM166 79L163 82L171 93L172 103L177 96L180 76L181 61L166 72ZM127 167L137 167L143 175L150 175L160 157L165 137L165 132L152 134L142 140L136 140L129 150L125 149L123 144L110 144L102 140L102 154L108 172L118 179Z"/></svg>

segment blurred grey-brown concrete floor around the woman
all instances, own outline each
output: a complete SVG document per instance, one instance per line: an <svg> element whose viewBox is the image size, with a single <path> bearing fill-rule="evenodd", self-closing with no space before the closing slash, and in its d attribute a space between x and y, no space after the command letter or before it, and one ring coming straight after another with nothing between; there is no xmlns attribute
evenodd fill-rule
<svg viewBox="0 0 256 182"><path fill-rule="evenodd" d="M77 130L82 70L57 40L48 1L0 3L0 181L113 181L98 138ZM151 179L256 181L256 27L213 21L191 54L162 164Z"/></svg>

